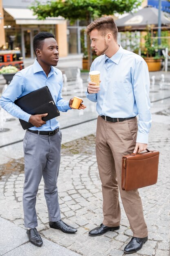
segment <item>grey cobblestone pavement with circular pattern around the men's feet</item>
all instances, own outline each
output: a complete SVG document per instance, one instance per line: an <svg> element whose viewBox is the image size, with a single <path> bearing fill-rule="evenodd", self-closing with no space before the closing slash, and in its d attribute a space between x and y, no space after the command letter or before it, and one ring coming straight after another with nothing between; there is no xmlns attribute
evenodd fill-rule
<svg viewBox="0 0 170 256"><path fill-rule="evenodd" d="M169 135L170 125L152 124L149 149L160 151L159 177L157 184L139 191L148 225L149 240L139 252L129 255L170 256ZM0 217L24 228L23 168L22 158L0 167ZM95 135L62 145L58 190L62 219L76 227L78 231L70 235L49 228L42 181L36 203L38 230L42 237L83 256L125 255L123 249L131 239L132 232L122 204L119 230L109 231L99 237L88 236L88 231L102 223L103 220L101 182L95 157Z"/></svg>

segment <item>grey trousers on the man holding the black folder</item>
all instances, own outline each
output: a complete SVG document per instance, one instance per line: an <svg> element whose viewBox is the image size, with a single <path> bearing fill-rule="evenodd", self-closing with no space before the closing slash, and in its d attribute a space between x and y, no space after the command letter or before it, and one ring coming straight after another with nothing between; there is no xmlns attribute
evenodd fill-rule
<svg viewBox="0 0 170 256"><path fill-rule="evenodd" d="M60 220L57 177L60 168L61 140L61 131L52 136L38 135L29 131L25 133L23 208L26 228L34 228L38 225L35 203L42 176L49 221Z"/></svg>

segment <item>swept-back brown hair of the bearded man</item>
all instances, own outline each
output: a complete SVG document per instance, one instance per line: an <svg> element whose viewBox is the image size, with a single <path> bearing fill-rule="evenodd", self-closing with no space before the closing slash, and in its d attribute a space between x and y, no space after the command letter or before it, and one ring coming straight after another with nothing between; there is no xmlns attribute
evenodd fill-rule
<svg viewBox="0 0 170 256"><path fill-rule="evenodd" d="M118 29L114 19L111 16L105 16L94 20L86 28L87 33L91 33L93 29L100 31L102 36L106 36L109 32L113 34L115 41L117 42Z"/></svg>

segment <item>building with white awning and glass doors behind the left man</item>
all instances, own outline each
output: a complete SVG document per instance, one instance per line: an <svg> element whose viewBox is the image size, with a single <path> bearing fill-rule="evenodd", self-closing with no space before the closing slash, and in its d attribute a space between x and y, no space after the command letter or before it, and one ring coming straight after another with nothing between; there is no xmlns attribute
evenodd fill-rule
<svg viewBox="0 0 170 256"><path fill-rule="evenodd" d="M34 58L33 37L40 31L48 31L55 35L61 57L81 54L86 24L78 20L70 24L62 17L38 20L29 9L33 2L0 0L0 49L20 49L24 59Z"/></svg>

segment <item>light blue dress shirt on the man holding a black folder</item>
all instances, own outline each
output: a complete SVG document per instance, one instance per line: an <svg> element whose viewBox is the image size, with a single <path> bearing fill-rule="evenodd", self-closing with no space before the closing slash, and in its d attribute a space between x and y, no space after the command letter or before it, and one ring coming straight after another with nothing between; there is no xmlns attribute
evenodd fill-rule
<svg viewBox="0 0 170 256"><path fill-rule="evenodd" d="M62 98L62 72L51 66L49 75L46 77L44 70L37 60L35 60L33 65L24 68L13 76L13 80L0 98L0 106L14 117L28 122L31 115L24 112L13 102L15 99L42 88L43 86L48 86L59 111L66 112L68 109L71 109L69 107L69 101L64 101ZM37 128L34 126L30 129L51 131L55 130L57 127L59 127L59 121L53 118L46 121L46 124L43 124L41 127Z"/></svg>

